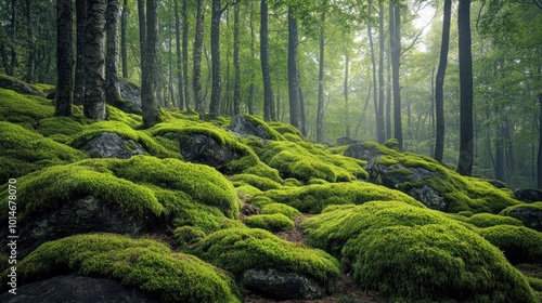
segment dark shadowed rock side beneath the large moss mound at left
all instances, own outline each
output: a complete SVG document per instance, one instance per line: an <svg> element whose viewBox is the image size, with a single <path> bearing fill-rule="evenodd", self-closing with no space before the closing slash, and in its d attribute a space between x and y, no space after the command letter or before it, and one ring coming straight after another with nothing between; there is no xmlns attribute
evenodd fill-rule
<svg viewBox="0 0 542 303"><path fill-rule="evenodd" d="M137 234L147 224L144 218L121 215L109 203L92 196L70 200L39 218L21 224L17 255L25 256L41 243L76 234L104 232ZM0 245L8 243L8 228L0 230ZM0 300L1 301L1 300Z"/></svg>

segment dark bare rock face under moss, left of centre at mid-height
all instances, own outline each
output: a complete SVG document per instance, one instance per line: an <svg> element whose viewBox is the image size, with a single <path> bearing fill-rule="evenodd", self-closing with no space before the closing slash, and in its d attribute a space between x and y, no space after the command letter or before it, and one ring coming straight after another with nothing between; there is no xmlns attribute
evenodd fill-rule
<svg viewBox="0 0 542 303"><path fill-rule="evenodd" d="M204 134L183 135L179 139L181 155L184 160L207 164L222 169L231 160L241 158L235 152L228 149L228 147L220 145L214 139Z"/></svg>

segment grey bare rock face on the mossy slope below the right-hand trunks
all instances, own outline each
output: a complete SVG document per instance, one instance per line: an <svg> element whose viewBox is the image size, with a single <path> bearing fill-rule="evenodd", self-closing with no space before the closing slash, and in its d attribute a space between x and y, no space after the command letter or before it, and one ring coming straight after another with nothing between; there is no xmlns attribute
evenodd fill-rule
<svg viewBox="0 0 542 303"><path fill-rule="evenodd" d="M423 184L425 177L438 177L435 172L424 168L405 167L401 163L388 167L378 163L377 158L369 161L365 170L369 173L367 181L371 183L400 189L430 209L446 211L449 207L441 193Z"/></svg>

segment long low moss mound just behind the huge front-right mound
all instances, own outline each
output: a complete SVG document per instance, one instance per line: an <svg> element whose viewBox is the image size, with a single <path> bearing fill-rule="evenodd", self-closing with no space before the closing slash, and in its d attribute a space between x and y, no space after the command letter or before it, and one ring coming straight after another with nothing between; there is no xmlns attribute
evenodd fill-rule
<svg viewBox="0 0 542 303"><path fill-rule="evenodd" d="M362 205L367 201L400 200L417 207L424 207L412 197L384 186L364 182L330 183L304 187L285 187L268 190L255 197L268 197L279 203L288 205L306 213L320 213L331 205ZM250 201L250 203L254 203Z"/></svg>

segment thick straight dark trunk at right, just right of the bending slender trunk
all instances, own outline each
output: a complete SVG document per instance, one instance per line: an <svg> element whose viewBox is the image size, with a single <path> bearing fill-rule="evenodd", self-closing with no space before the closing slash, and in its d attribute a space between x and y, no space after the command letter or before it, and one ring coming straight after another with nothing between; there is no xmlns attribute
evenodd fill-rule
<svg viewBox="0 0 542 303"><path fill-rule="evenodd" d="M457 9L460 48L460 159L457 173L473 173L473 54L470 51L470 1L460 0Z"/></svg>

